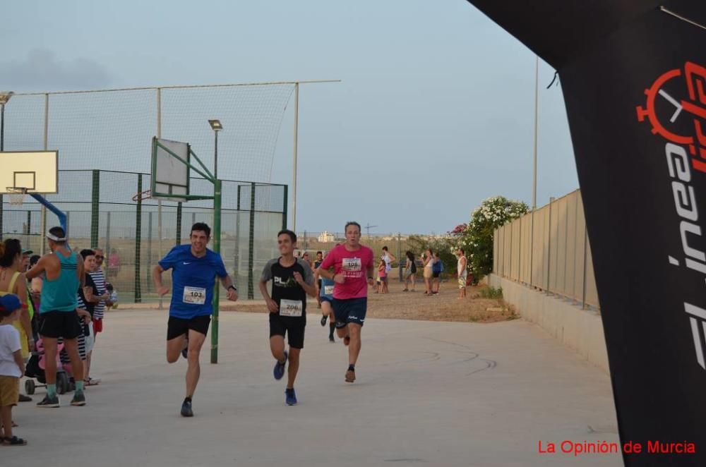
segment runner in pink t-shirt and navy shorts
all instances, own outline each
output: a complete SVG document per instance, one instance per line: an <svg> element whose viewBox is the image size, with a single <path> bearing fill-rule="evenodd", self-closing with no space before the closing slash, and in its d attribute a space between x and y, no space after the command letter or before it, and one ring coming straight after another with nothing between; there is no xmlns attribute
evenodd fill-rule
<svg viewBox="0 0 706 467"><path fill-rule="evenodd" d="M360 353L360 332L368 308L368 288L373 286L373 250L360 244L360 224L346 224L346 242L328 253L318 274L333 279L333 311L336 333L348 346L346 382L355 381L355 363ZM333 272L329 268L333 266Z"/></svg>

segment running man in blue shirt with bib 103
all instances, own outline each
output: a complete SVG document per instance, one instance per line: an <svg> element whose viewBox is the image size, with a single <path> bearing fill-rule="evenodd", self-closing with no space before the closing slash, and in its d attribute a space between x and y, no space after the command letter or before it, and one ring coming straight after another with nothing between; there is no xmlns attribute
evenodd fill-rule
<svg viewBox="0 0 706 467"><path fill-rule="evenodd" d="M213 314L213 287L216 277L228 291L228 300L236 301L238 292L223 265L220 255L206 248L211 229L203 222L191 226L191 245L177 245L163 257L152 279L160 296L169 292L162 284L162 272L172 269L172 303L167 324L167 362L179 360L179 353L188 349L186 360L186 398L181 404L181 416L192 417L191 398L201 375L198 363L201 346L206 339ZM183 353L182 353L183 354Z"/></svg>

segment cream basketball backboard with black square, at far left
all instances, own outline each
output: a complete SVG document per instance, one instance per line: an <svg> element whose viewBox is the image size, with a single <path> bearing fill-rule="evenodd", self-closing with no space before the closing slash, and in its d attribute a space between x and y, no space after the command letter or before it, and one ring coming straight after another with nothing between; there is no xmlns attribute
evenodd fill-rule
<svg viewBox="0 0 706 467"><path fill-rule="evenodd" d="M0 193L27 188L27 193L59 192L59 151L0 152Z"/></svg>

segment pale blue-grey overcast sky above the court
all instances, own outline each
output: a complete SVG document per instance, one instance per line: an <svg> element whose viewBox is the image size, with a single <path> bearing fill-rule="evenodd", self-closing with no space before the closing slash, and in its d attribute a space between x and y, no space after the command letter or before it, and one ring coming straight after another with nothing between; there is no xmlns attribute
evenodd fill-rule
<svg viewBox="0 0 706 467"><path fill-rule="evenodd" d="M341 79L301 87L297 231L357 219L443 233L489 196L531 202L534 54L465 0L25 0L4 13L0 89ZM578 181L561 85L546 89L540 63L544 205ZM292 183L292 107L276 183Z"/></svg>

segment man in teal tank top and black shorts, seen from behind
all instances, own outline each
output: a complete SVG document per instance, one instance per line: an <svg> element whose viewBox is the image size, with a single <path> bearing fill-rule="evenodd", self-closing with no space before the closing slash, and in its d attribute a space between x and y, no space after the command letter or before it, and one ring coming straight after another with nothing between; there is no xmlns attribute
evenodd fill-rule
<svg viewBox="0 0 706 467"><path fill-rule="evenodd" d="M45 274L40 300L39 334L44 342L47 396L37 406L59 407L59 396L56 395L56 341L59 337L64 338L64 348L71 358L73 379L76 380L71 405L85 406L83 363L78 356L76 341L78 334L83 332L76 314L76 291L79 286L84 286L83 261L76 260L76 253L66 245L66 232L61 227L49 229L47 243L52 253L42 256L26 274L30 281Z"/></svg>

